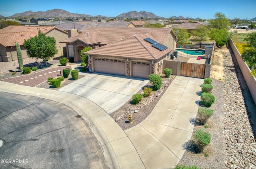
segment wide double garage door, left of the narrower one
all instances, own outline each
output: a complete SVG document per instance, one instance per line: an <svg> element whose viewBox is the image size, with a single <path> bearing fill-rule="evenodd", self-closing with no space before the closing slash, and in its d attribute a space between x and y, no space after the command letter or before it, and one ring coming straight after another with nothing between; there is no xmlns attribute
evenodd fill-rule
<svg viewBox="0 0 256 169"><path fill-rule="evenodd" d="M94 72L125 76L125 62L122 60L94 58Z"/></svg>

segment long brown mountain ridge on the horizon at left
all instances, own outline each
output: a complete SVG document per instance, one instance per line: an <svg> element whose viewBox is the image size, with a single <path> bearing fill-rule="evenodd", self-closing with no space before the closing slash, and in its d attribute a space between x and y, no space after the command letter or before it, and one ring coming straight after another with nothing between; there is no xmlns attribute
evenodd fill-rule
<svg viewBox="0 0 256 169"><path fill-rule="evenodd" d="M36 17L36 18L80 18L80 17L92 17L86 14L74 14L62 9L47 10L46 12L38 11L26 11L19 14L14 14L11 17L22 18L22 17Z"/></svg>

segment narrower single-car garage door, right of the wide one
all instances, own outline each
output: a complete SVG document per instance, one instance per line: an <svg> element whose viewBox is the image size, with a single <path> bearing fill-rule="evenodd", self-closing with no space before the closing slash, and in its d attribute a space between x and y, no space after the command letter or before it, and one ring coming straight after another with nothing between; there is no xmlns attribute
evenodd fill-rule
<svg viewBox="0 0 256 169"><path fill-rule="evenodd" d="M132 62L132 77L148 79L150 75L150 63Z"/></svg>

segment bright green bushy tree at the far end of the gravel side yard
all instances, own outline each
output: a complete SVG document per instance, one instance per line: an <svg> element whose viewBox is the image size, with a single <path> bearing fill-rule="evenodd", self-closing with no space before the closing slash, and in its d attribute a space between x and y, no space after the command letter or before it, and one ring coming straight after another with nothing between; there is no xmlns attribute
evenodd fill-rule
<svg viewBox="0 0 256 169"><path fill-rule="evenodd" d="M212 40L215 40L216 46L218 48L220 48L220 47L224 46L230 38L228 29L226 29L226 28L223 28L223 29L214 28L210 32L210 38Z"/></svg>

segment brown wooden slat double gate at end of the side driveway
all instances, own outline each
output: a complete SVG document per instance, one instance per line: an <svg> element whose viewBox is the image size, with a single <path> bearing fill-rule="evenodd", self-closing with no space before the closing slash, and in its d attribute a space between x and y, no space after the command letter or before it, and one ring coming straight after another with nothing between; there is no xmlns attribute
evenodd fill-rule
<svg viewBox="0 0 256 169"><path fill-rule="evenodd" d="M204 78L204 64L181 62L180 75L192 78Z"/></svg>

